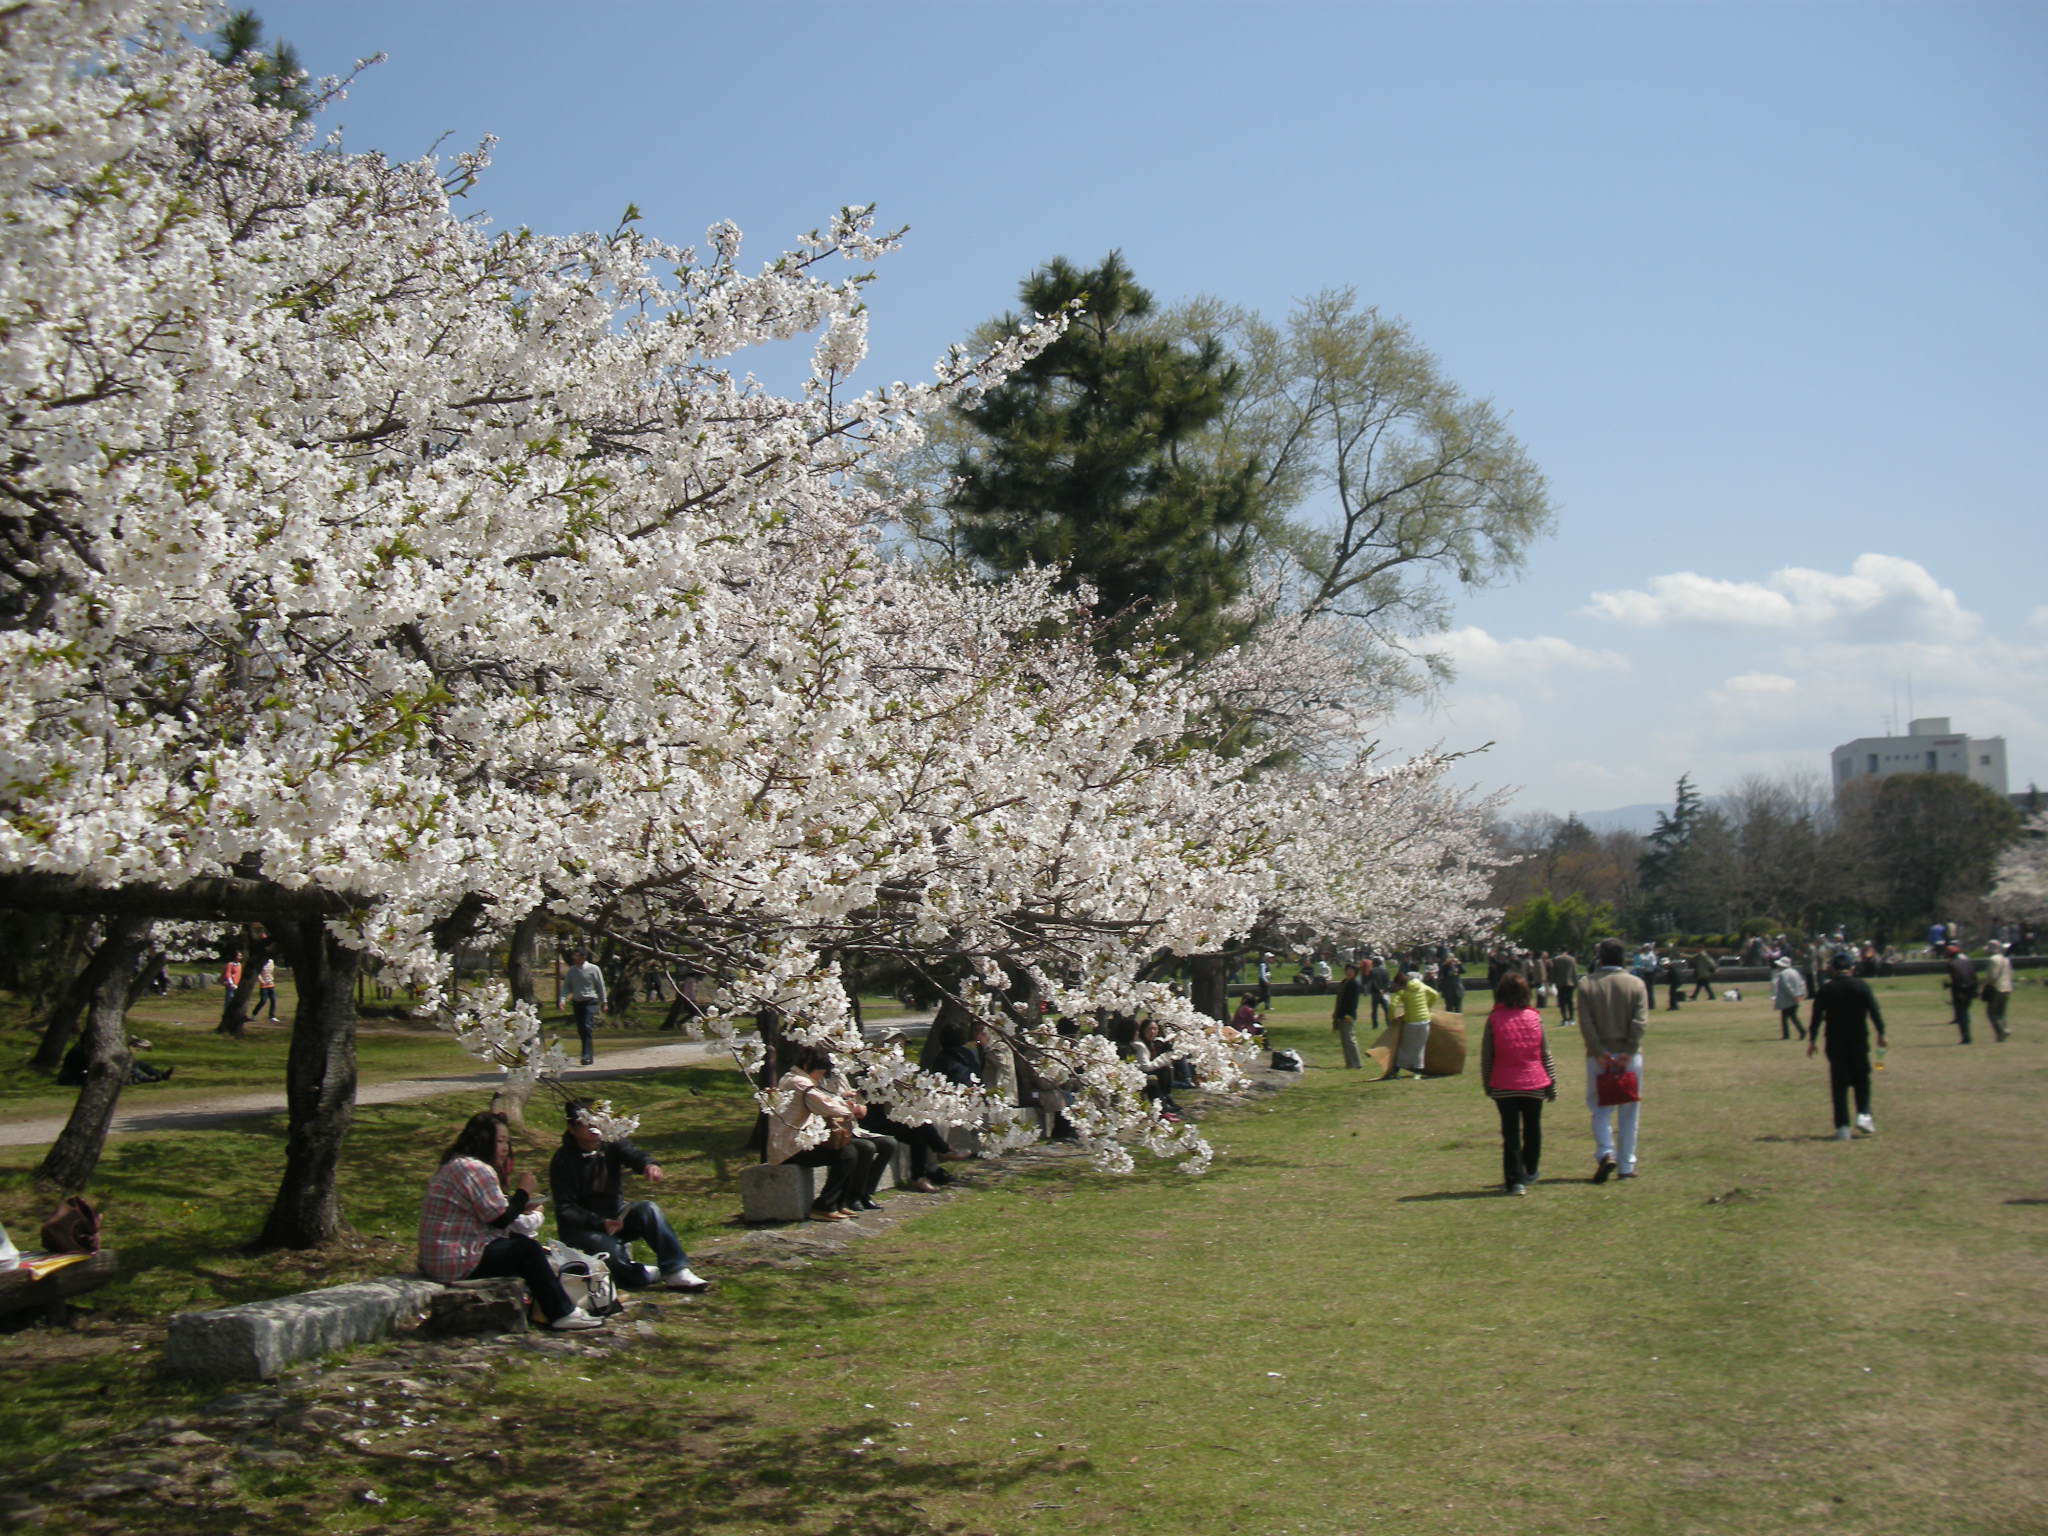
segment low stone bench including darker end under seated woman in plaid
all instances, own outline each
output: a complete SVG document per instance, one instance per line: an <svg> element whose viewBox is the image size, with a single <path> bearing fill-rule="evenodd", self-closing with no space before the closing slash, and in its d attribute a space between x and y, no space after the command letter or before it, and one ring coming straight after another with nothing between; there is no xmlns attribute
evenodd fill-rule
<svg viewBox="0 0 2048 1536"><path fill-rule="evenodd" d="M457 1280L444 1286L418 1274L387 1274L240 1307L176 1313L164 1364L190 1380L268 1380L299 1360L381 1339L414 1321L438 1333L520 1331L526 1327L522 1296L518 1280Z"/></svg>

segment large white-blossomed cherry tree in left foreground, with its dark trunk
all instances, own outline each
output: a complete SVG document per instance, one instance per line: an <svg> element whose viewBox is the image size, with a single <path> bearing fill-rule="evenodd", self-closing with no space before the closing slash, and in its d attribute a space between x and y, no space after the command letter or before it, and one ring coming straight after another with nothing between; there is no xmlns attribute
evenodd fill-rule
<svg viewBox="0 0 2048 1536"><path fill-rule="evenodd" d="M0 14L0 899L268 926L301 993L268 1241L338 1225L365 956L532 1077L559 1053L530 1001L455 989L459 940L541 909L649 952L686 932L741 1053L733 1020L774 1008L897 1114L1022 1137L868 1044L831 956L965 963L954 1004L1071 1087L1106 1163L1200 1167L1020 981L1151 1010L1225 1083L1157 954L1276 907L1421 936L1479 899L1442 764L1309 750L1350 711L1296 715L1298 768L1204 743L1231 698L1323 676L1300 637L1102 668L1055 573L883 559L864 469L1059 317L856 393L893 244L866 209L752 270L731 225L702 252L633 217L492 233L455 205L481 152L315 145L190 41L207 14ZM797 336L788 395L729 367Z"/></svg>

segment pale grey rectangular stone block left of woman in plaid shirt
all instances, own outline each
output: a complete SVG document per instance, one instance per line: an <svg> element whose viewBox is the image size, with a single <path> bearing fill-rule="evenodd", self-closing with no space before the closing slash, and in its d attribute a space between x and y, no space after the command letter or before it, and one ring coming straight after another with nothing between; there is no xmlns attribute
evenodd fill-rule
<svg viewBox="0 0 2048 1536"><path fill-rule="evenodd" d="M285 1366L387 1335L442 1286L391 1274L170 1319L164 1364L193 1380L268 1380Z"/></svg>

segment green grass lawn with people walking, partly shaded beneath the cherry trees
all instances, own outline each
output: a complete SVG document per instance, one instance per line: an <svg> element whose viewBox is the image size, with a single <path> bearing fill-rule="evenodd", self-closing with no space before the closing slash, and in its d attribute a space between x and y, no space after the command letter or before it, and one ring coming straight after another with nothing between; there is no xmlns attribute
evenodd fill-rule
<svg viewBox="0 0 2048 1536"><path fill-rule="evenodd" d="M1587 1182L1567 1087L1522 1200L1495 1194L1475 1077L1331 1069L1329 999L1284 999L1276 1040L1311 1071L1212 1118L1204 1178L1067 1165L805 1270L707 1264L721 1288L664 1309L659 1337L602 1380L584 1358L522 1356L483 1389L446 1386L410 1438L240 1473L209 1518L649 1536L2042 1532L2048 995L2021 987L2015 1040L1991 1044L1978 1022L1968 1051L1931 981L1880 995L1876 1139L1829 1137L1825 1065L1778 1040L1767 1001L1698 1004L1653 1020L1642 1178ZM737 1081L696 1069L631 1094L672 1171L662 1198L700 1245L737 1204ZM162 1311L401 1255L465 1108L367 1110L346 1184L358 1235L311 1260L227 1247L260 1217L274 1126L123 1139L100 1192L115 1241L158 1264L100 1292L80 1333L0 1339L25 1382L0 1415L18 1481L193 1401L150 1368ZM31 1163L0 1165L10 1225ZM16 1368L51 1352L61 1368ZM352 1503L365 1485L385 1503ZM74 1528L195 1526L190 1507L133 1499L117 1524Z"/></svg>

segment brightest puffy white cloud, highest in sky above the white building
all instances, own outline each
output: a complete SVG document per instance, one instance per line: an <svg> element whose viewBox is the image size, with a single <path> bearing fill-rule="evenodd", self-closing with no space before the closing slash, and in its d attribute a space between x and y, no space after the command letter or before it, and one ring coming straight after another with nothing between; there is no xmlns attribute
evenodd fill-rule
<svg viewBox="0 0 2048 1536"><path fill-rule="evenodd" d="M1896 555L1858 555L1847 573L1786 565L1761 582L1653 575L1649 590L1595 592L1585 612L1634 629L1712 625L1860 641L1966 641L1980 629L1925 565Z"/></svg>

